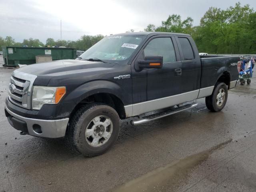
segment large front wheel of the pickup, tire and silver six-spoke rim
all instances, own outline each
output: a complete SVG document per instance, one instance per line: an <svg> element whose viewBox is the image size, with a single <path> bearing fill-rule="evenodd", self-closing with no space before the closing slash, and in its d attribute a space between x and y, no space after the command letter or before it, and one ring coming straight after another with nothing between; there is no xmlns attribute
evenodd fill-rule
<svg viewBox="0 0 256 192"><path fill-rule="evenodd" d="M73 115L67 137L81 154L92 157L109 150L118 138L119 130L116 110L94 103L80 108Z"/></svg>

